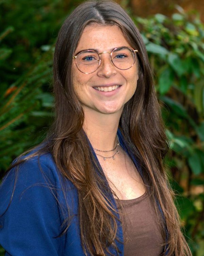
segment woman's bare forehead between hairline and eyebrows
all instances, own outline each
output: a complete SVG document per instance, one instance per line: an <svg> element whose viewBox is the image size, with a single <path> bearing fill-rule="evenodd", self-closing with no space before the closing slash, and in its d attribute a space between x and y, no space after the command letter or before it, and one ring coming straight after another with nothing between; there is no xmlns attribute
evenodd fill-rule
<svg viewBox="0 0 204 256"><path fill-rule="evenodd" d="M118 26L92 24L84 28L75 52L85 49L111 51L120 46L131 47Z"/></svg>

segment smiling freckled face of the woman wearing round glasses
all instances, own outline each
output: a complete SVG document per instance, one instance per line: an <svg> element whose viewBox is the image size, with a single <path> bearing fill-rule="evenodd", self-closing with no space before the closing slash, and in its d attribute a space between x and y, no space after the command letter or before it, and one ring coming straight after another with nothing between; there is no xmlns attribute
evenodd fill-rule
<svg viewBox="0 0 204 256"><path fill-rule="evenodd" d="M92 118L93 111L99 118L99 113L115 113L119 120L138 80L135 52L121 29L116 25L86 26L75 53L73 87L86 116Z"/></svg>

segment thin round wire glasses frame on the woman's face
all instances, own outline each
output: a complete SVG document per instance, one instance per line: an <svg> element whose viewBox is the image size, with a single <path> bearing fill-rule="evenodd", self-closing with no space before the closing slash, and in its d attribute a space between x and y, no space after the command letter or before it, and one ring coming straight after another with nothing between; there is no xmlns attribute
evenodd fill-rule
<svg viewBox="0 0 204 256"><path fill-rule="evenodd" d="M134 50L132 47L129 47L129 46L121 46L121 47L116 47L116 48L114 48L112 52L104 51L104 52L102 52L102 53L109 53L109 54L110 54L110 57L111 57L110 60L111 60L112 64L116 67L116 65L113 63L113 60L112 60L112 54L113 54L113 52L114 52L117 48L129 48L129 49L131 49L131 50L134 52L134 62L133 62L133 65L135 64L135 60L136 60L136 54L135 54L135 53L137 53L138 50ZM82 53L82 52L94 52L94 53L97 53L95 50L91 50L91 49L87 49L87 50L82 50L82 51L80 51L79 53L77 53L77 55L73 56L73 59L75 59L75 64L76 64L76 66L77 66L77 56L78 56L80 53ZM102 54L102 53L97 53L98 56L99 56L99 65L98 65L97 69L98 69L98 68L100 67L100 65L101 65L101 54ZM132 65L132 66L133 66L133 65ZM132 68L132 66L131 66L130 68ZM79 69L78 66L77 66L77 68ZM117 68L117 69L120 69L120 68L118 68L118 67L116 67L116 68ZM130 69L130 68L127 68L127 69ZM80 69L79 69L79 71L82 72L82 73L84 73L84 74L92 74L92 73L94 73L95 71L97 71L97 69L94 70L94 71L91 72L91 73L83 72L83 71L81 71ZM127 70L127 69L120 69L120 70Z"/></svg>

